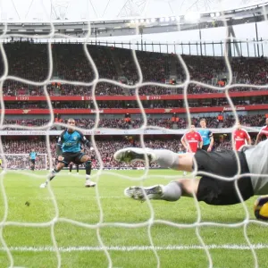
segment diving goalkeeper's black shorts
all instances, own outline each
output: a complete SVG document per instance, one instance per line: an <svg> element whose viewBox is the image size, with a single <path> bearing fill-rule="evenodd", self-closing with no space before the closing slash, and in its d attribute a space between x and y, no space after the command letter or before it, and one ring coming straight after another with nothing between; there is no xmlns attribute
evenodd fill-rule
<svg viewBox="0 0 268 268"><path fill-rule="evenodd" d="M246 156L243 152L238 152L241 173L249 173ZM226 178L233 178L238 174L237 158L232 150L222 150L220 152L207 153L198 149L195 155L198 172L209 172L211 175L202 175L197 189L197 200L204 201L209 205L233 205L241 202L235 188L235 180L220 180L214 175ZM198 175L197 172L197 175ZM238 187L243 200L247 200L254 195L250 177L241 177Z"/></svg>

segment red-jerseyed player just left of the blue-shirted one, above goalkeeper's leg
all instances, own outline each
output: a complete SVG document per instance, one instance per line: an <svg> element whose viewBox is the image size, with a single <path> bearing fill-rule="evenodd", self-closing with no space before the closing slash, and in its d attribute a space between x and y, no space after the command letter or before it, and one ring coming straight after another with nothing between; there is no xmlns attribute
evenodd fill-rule
<svg viewBox="0 0 268 268"><path fill-rule="evenodd" d="M203 139L194 125L191 125L190 130L183 135L180 141L188 153L197 153L197 148L203 146Z"/></svg>

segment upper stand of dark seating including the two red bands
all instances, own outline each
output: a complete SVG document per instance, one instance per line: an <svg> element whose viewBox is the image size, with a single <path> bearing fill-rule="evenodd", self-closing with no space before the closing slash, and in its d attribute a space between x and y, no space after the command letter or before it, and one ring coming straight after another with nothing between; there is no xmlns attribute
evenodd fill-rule
<svg viewBox="0 0 268 268"><path fill-rule="evenodd" d="M8 73L3 86L6 113L24 113L21 109L27 109L27 113L50 113L47 109L45 85L53 102L54 113L96 113L92 103L94 96L102 109L101 113L140 113L135 84L141 77L131 50L80 44L14 42L4 44L4 52L8 64L4 65L1 55L0 73ZM178 56L140 51L136 54L142 81L147 82L147 85L138 88L138 95L147 109L146 112L185 113L184 88L180 84L186 79L186 70ZM229 103L222 89L230 79L237 83L230 88L230 96L234 105L242 105L239 110L268 108L268 90L264 86L268 78L268 63L264 57L230 58L231 77L222 57L182 55L182 59L191 80L215 87L200 86L194 81L188 85L188 105L194 108L192 113L229 110ZM96 78L96 71L99 79L110 81L100 81L96 88L92 88L85 83ZM29 83L21 83L13 77L29 80ZM132 88L115 86L112 83L114 80ZM43 85L30 85L30 82ZM73 82L84 84L75 85ZM149 85L150 82L157 82L158 85ZM222 106L226 107L222 110Z"/></svg>

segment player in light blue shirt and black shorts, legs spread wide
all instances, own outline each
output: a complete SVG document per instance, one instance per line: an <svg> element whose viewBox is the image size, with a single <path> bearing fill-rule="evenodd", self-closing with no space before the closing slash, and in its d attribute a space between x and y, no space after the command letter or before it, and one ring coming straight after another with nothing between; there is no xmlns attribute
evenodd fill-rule
<svg viewBox="0 0 268 268"><path fill-rule="evenodd" d="M46 188L47 183L50 180L53 180L56 173L60 172L63 167L67 167L69 163L85 163L86 167L86 187L95 187L96 183L90 180L91 173L91 160L88 155L81 152L81 144L93 150L90 147L90 143L88 139L78 130L74 130L75 121L70 118L67 122L69 125L67 130L64 130L58 139L57 143L57 155L58 155L58 163L54 170L50 172L48 178L45 183L40 185L40 188Z"/></svg>

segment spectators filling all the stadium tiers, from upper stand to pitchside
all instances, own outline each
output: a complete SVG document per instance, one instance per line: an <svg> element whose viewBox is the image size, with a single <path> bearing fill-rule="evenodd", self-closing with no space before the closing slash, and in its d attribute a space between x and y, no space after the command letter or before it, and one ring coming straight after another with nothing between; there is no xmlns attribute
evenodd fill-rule
<svg viewBox="0 0 268 268"><path fill-rule="evenodd" d="M49 63L48 49L52 50L53 62ZM12 42L4 44L4 51L8 61L8 75L16 76L30 81L45 81L46 87L29 85L12 79L4 81L3 94L4 96L44 96L47 90L49 96L92 96L92 85L71 85L68 81L78 81L90 83L96 79L96 74L100 79L109 79L120 81L124 84L135 85L141 78L138 74L138 68L134 61L133 52L128 49L105 47L105 46L82 46L80 44L33 44L29 42ZM70 56L71 55L71 56ZM142 82L157 82L170 83L171 74L175 74L177 80L173 80L174 84L180 84L186 79L185 69L182 67L179 58L176 54L159 54L149 52L136 52L138 64L142 72ZM222 87L230 80L229 71L226 68L225 59L222 57L194 56L182 55L183 61L189 71L190 80L201 81L203 83L214 85L217 89L210 89L204 86L199 86L190 83L187 88L188 94L203 94L222 92ZM49 68L53 67L52 70ZM154 66L154 68L152 68ZM0 74L4 74L5 70L3 54L0 54ZM95 68L96 67L96 68ZM265 58L232 58L230 60L232 69L233 81L236 84L241 84L239 87L230 88L230 91L249 91L259 90L259 86L268 83L268 62ZM48 77L50 71L52 76ZM51 82L52 80L66 80L65 83ZM254 85L253 87L245 87L246 85ZM179 87L179 86L178 86ZM46 90L45 90L46 89ZM264 89L263 89L264 90ZM115 86L107 82L98 82L94 88L96 96L115 96L125 95L133 96L136 94L136 89L127 89ZM161 86L146 85L138 88L138 94L141 96L149 95L174 95L182 94L183 88L163 88ZM208 97L209 98L209 97ZM265 97L239 99L233 98L234 105L255 105L266 104ZM182 107L183 101L155 101L143 102L146 108L169 108ZM29 103L21 101L20 103L5 102L6 109L35 109L47 108L46 102ZM90 102L64 103L53 102L52 105L57 108L89 108ZM100 108L121 108L123 105L128 107L138 107L137 102L98 102ZM190 107L196 106L213 106L213 105L229 105L224 98L214 100L199 100L189 101ZM172 115L171 115L172 116ZM203 117L203 116L202 116ZM208 128L230 128L234 124L234 118L224 114L223 121L218 117L206 117ZM192 122L199 126L200 118L192 118ZM258 115L239 115L239 121L245 126L263 126L264 114ZM21 126L44 126L47 124L47 119L5 119L4 124L18 124ZM132 118L130 121L121 119L102 118L99 121L99 128L115 128L115 129L137 129L143 124L141 118ZM77 126L82 129L92 129L95 125L94 119L77 119ZM163 127L167 129L186 129L188 123L185 118L147 118L147 125L155 127ZM52 130L61 130L63 127L54 126ZM5 130L11 130L11 127L6 127ZM13 128L14 130L14 128ZM167 148L172 151L179 152L183 150L180 144L180 138L166 139L147 139L146 147L152 148ZM138 140L136 141L137 146ZM52 156L55 156L55 140L52 140L48 145L51 148ZM113 161L113 153L121 147L130 146L130 141L127 139L121 140L97 140L96 146L100 152L101 161L105 167L109 166L143 166L141 163L126 164L115 163ZM29 154L29 151L34 148L39 154L47 154L47 147L44 140L34 138L28 140L16 140L3 138L3 147L5 154ZM230 140L222 138L215 142L214 149L221 147L230 148ZM92 153L93 167L99 167L99 159L96 154ZM43 164L44 159L39 161ZM43 157L43 156L42 156ZM42 161L41 161L42 160ZM9 166L19 168L21 165L27 165L29 159L27 156L8 156ZM44 165L43 165L44 166Z"/></svg>

